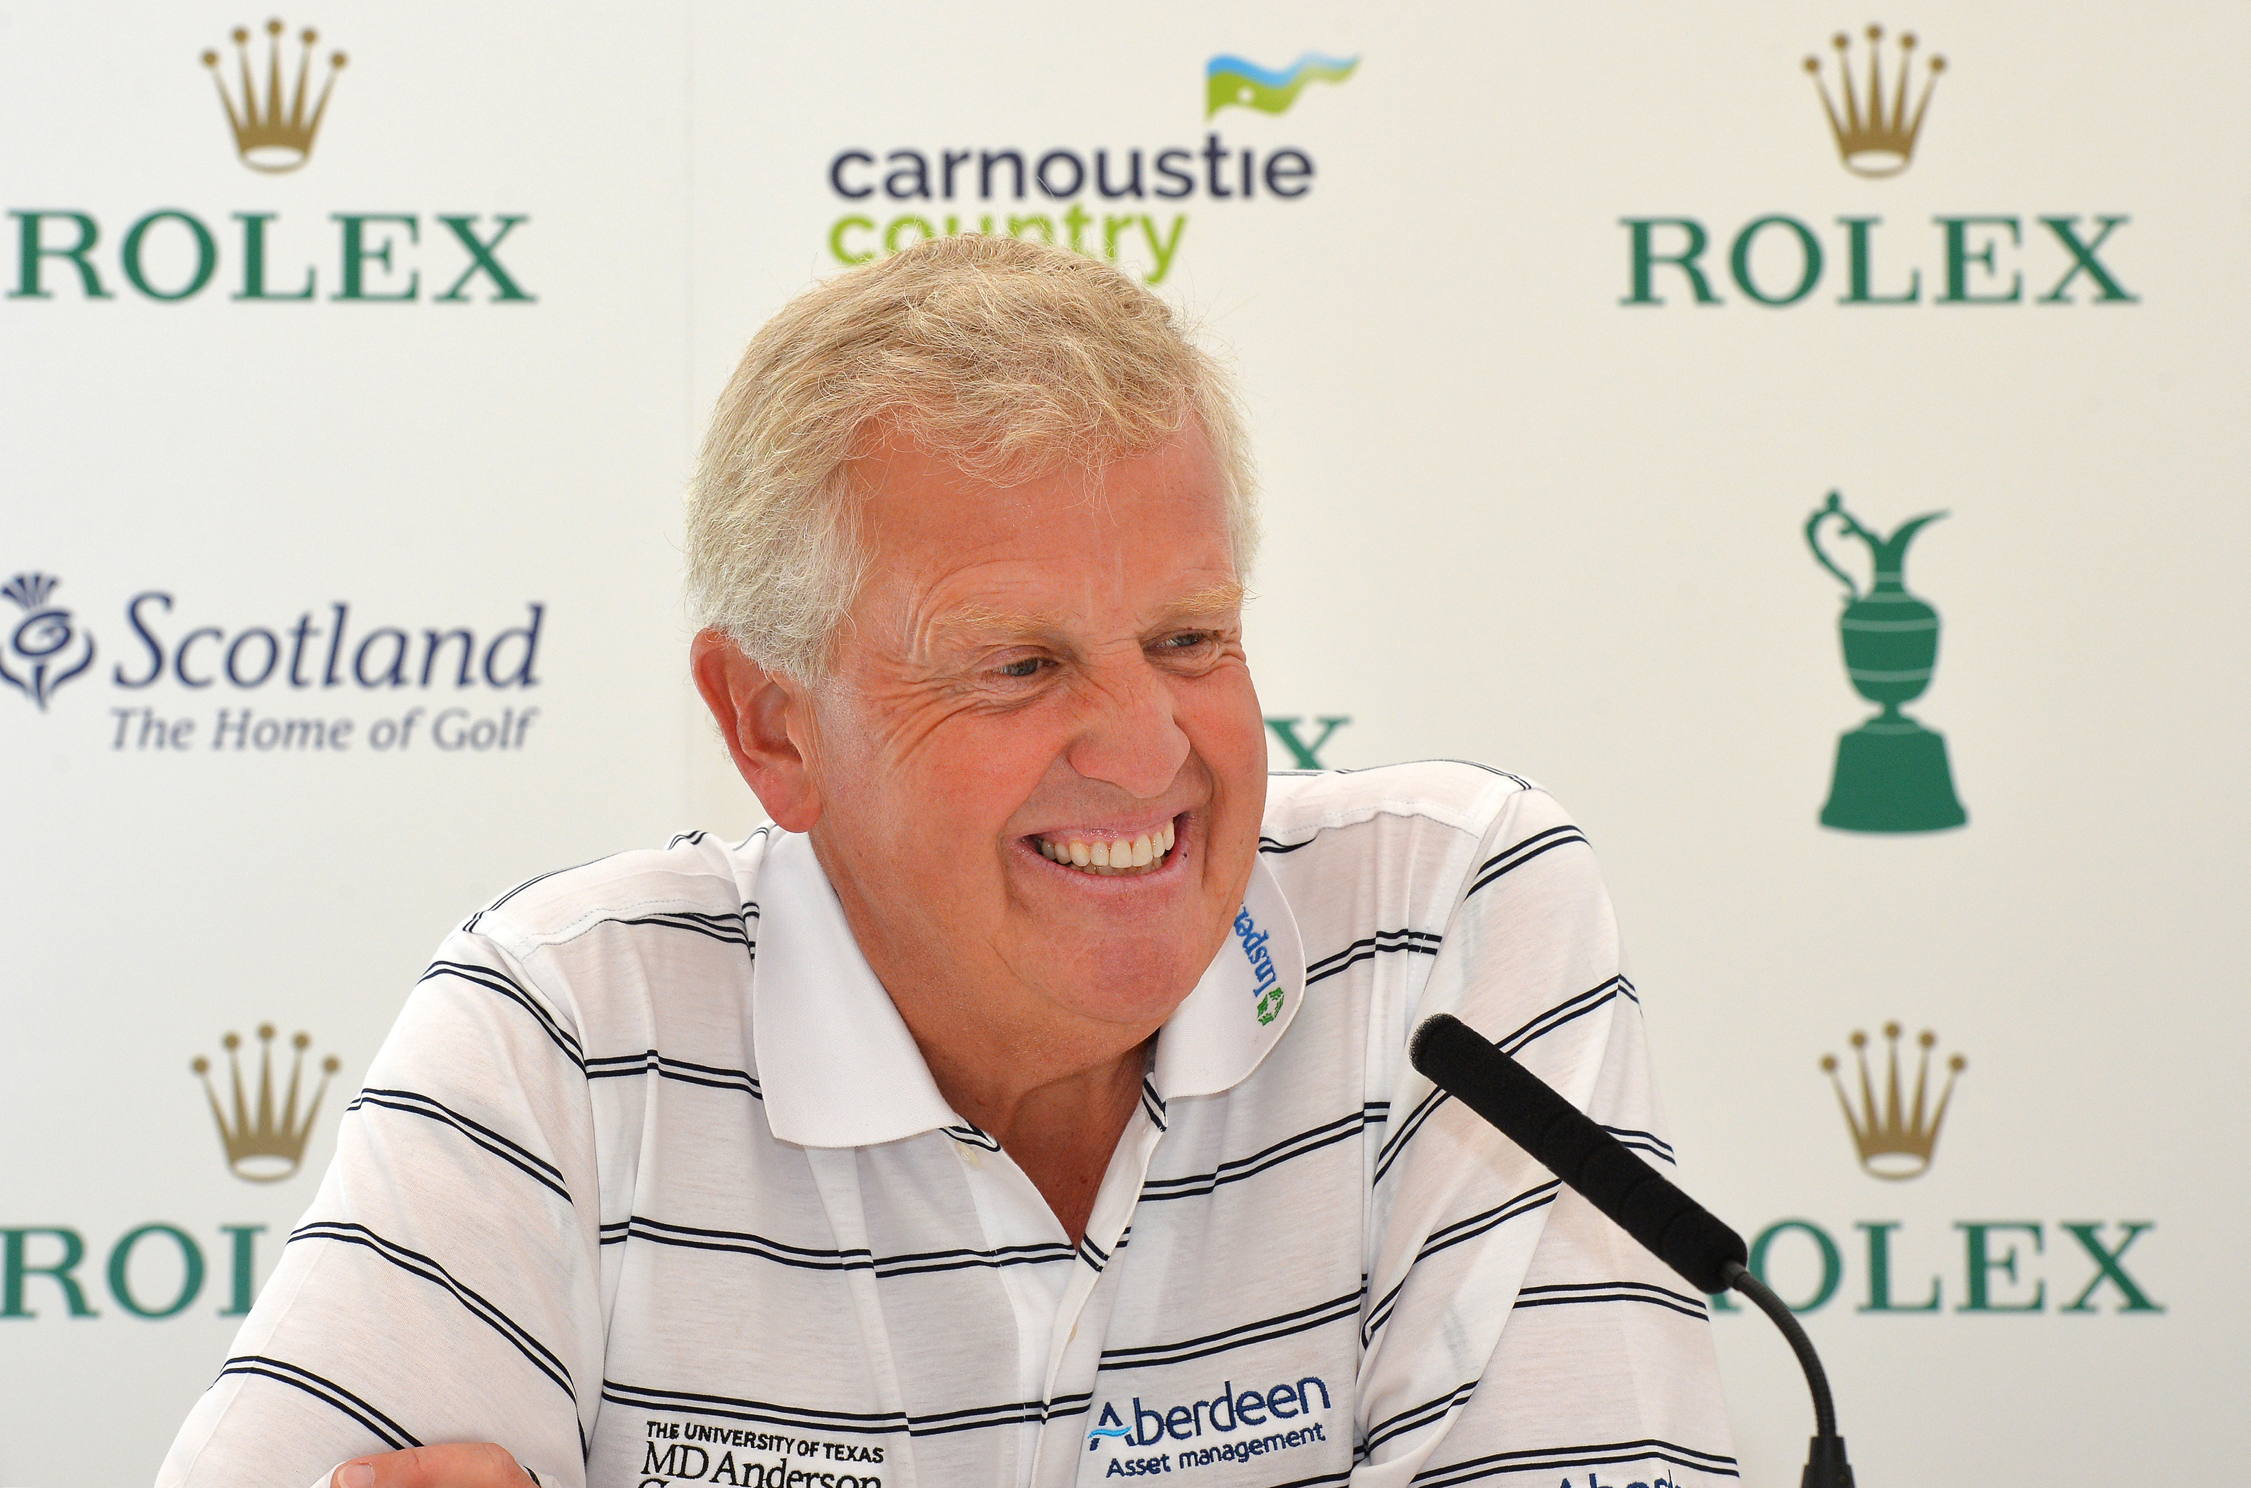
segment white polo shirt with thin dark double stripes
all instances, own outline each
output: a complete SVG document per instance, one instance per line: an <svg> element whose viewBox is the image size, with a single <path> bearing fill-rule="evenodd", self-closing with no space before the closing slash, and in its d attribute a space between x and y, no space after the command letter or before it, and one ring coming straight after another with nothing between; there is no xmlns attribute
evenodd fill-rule
<svg viewBox="0 0 2251 1488"><path fill-rule="evenodd" d="M1672 1162L1551 797L1276 774L1074 1247L804 837L538 878L423 975L158 1481L441 1441L549 1488L1731 1481L1704 1299L1432 1092L1438 1011Z"/></svg>

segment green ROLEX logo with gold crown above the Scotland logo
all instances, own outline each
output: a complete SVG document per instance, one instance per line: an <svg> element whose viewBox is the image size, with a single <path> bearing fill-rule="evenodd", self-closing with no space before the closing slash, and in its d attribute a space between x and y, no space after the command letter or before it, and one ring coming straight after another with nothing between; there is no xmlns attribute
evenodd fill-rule
<svg viewBox="0 0 2251 1488"><path fill-rule="evenodd" d="M320 32L297 32L297 50L281 20L266 23L266 47L248 27L234 27L232 59L205 50L203 68L218 88L225 133L241 164L277 176L302 169L329 124L344 52L315 56ZM146 34L146 32L137 32ZM187 59L182 59L187 61ZM230 65L232 63L232 65ZM194 70L180 70L182 124L189 110L214 122L196 101ZM392 79L392 86L401 86ZM169 99L160 99L169 104ZM171 194L167 194L171 196ZM178 198L176 198L178 200ZM113 232L110 216L86 205L11 207L16 223L14 275L7 299L124 302L133 297L178 304L209 293L230 302L353 302L353 304L533 304L533 293L504 250L531 218L524 212L378 212L340 205L311 221L259 209L254 203L221 207L128 207ZM322 221L324 218L324 221Z"/></svg>

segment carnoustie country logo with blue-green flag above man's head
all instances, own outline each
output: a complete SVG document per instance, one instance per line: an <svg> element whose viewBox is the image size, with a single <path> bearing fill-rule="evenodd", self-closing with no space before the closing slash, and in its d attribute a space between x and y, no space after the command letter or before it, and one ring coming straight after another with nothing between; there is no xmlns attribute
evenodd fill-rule
<svg viewBox="0 0 2251 1488"><path fill-rule="evenodd" d="M828 225L828 254L867 263L923 239L984 232L1062 243L1162 284L1189 232L1189 205L1288 209L1319 176L1310 149L1243 144L1209 126L1211 117L1222 108L1285 115L1310 83L1342 86L1357 68L1357 56L1315 52L1281 72L1213 56L1200 144L846 146L828 160L828 189L844 203Z"/></svg>

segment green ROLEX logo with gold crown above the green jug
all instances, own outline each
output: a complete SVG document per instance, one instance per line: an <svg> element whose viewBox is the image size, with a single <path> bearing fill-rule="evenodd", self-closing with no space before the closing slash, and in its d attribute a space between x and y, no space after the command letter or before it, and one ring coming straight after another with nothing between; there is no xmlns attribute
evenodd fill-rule
<svg viewBox="0 0 2251 1488"><path fill-rule="evenodd" d="M1776 119L1805 151L1828 153L1859 187L1850 209L1769 212L1740 225L1702 216L1621 216L1625 306L1796 306L1832 286L1841 306L2136 304L2114 263L2125 212L2084 207L1985 207L1900 198L1916 151L1974 149L1947 131L1940 79L1958 86L1947 59L1925 56L1913 32L1871 25L1859 43L1830 38L1835 65L1803 61L1812 106ZM1967 81L1967 79L1965 79ZM1886 214L1891 221L1886 223ZM1920 225L1918 225L1920 218ZM1841 275L1835 272L1841 266ZM1839 288L1841 281L1841 288Z"/></svg>

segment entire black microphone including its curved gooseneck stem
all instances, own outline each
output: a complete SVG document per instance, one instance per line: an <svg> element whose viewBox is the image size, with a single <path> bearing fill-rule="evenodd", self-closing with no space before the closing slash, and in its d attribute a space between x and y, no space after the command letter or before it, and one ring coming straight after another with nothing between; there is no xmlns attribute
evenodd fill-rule
<svg viewBox="0 0 2251 1488"><path fill-rule="evenodd" d="M1814 1396L1814 1438L1801 1488L1853 1488L1828 1373L1790 1303L1745 1265L1749 1247L1742 1236L1452 1013L1427 1018L1414 1031L1407 1058L1423 1078L1497 1126L1688 1285L1713 1294L1736 1290L1758 1303L1790 1339Z"/></svg>

